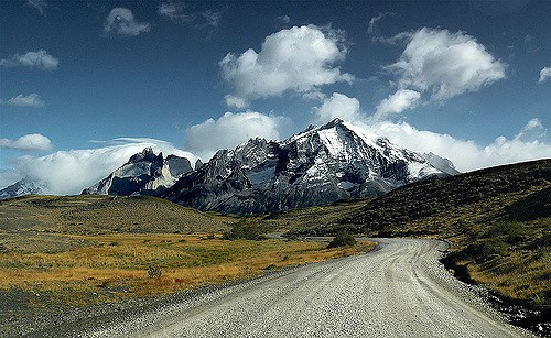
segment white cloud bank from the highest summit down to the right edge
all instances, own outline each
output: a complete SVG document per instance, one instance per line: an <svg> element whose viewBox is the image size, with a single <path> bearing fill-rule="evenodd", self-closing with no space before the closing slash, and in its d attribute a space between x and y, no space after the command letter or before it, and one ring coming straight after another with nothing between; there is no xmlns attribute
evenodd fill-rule
<svg viewBox="0 0 551 338"><path fill-rule="evenodd" d="M538 118L529 120L510 139L499 135L490 144L480 145L471 140L419 130L403 121L372 119L363 112L355 98L338 92L326 98L314 111L318 121L325 119L322 123L339 117L366 139L386 137L399 146L420 153L432 152L450 159L462 172L551 157L551 143L543 123Z"/></svg>

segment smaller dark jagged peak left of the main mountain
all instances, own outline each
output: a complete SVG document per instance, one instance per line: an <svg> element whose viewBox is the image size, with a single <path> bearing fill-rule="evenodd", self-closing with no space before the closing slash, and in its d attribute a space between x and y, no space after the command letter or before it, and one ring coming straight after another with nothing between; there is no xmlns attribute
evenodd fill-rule
<svg viewBox="0 0 551 338"><path fill-rule="evenodd" d="M99 195L159 195L177 178L192 171L187 159L163 154L155 155L151 148L134 154L109 176L83 190Z"/></svg>

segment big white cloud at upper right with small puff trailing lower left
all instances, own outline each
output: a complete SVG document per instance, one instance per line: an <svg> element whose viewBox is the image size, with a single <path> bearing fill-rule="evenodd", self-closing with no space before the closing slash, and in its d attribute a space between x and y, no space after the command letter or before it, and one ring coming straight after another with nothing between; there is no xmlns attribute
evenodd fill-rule
<svg viewBox="0 0 551 338"><path fill-rule="evenodd" d="M407 45L399 59L386 67L397 76L398 91L379 103L379 117L412 108L425 92L442 102L506 77L507 65L461 31L423 28L391 40Z"/></svg>

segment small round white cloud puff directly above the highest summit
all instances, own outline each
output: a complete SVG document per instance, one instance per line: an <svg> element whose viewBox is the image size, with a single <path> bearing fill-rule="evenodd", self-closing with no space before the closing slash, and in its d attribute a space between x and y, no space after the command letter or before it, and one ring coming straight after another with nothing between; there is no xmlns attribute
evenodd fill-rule
<svg viewBox="0 0 551 338"><path fill-rule="evenodd" d="M360 118L360 105L356 98L347 97L341 92L333 92L322 101L322 106L314 109L315 122L326 123L335 118L354 121Z"/></svg>

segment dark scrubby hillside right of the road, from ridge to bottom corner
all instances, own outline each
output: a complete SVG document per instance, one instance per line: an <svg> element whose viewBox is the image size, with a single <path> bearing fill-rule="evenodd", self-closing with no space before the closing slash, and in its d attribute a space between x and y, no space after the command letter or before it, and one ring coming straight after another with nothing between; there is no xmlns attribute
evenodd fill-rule
<svg viewBox="0 0 551 338"><path fill-rule="evenodd" d="M446 239L444 262L460 277L530 304L551 334L551 160L413 183L343 214L334 227Z"/></svg>

